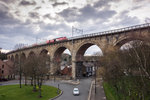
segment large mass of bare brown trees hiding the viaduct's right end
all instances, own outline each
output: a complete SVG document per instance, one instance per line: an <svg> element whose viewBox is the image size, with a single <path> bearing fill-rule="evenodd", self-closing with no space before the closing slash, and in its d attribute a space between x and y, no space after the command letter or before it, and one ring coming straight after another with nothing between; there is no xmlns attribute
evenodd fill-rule
<svg viewBox="0 0 150 100"><path fill-rule="evenodd" d="M100 59L104 66L104 80L111 83L117 93L122 93L124 97L140 100L146 98L149 87L147 80L150 81L149 40L145 38L145 41L134 41L130 48L108 52ZM122 85L118 85L118 82Z"/></svg>

